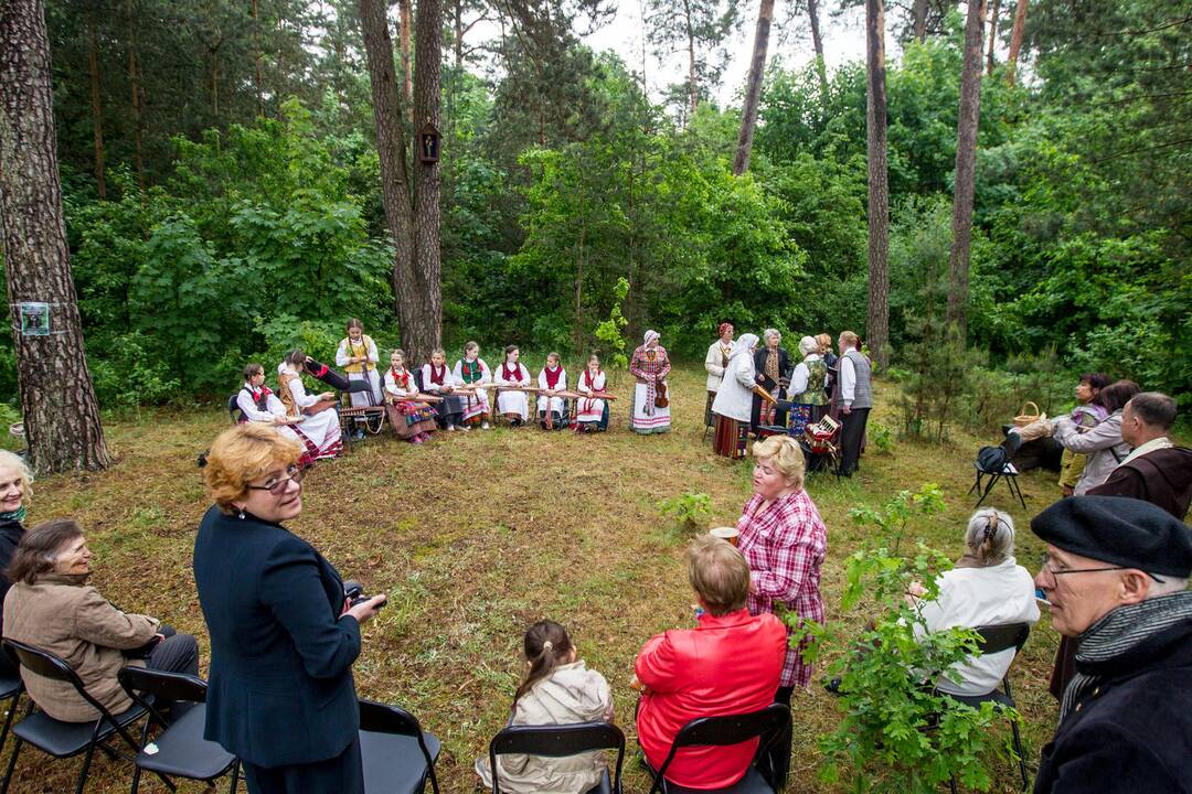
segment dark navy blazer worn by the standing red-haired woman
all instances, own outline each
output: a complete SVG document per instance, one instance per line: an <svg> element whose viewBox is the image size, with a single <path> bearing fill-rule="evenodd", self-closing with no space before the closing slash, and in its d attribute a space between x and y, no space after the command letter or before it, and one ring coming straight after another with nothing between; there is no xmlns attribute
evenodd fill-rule
<svg viewBox="0 0 1192 794"><path fill-rule="evenodd" d="M207 511L194 583L211 636L204 737L259 767L339 756L356 738L360 625L343 581L279 524Z"/></svg>

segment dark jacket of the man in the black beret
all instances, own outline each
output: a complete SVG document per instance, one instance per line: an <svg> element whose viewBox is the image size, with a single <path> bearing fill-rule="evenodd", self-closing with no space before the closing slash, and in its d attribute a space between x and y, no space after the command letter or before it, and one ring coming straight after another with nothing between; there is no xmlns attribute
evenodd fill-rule
<svg viewBox="0 0 1192 794"><path fill-rule="evenodd" d="M1109 662L1043 748L1035 794L1192 792L1192 620Z"/></svg>

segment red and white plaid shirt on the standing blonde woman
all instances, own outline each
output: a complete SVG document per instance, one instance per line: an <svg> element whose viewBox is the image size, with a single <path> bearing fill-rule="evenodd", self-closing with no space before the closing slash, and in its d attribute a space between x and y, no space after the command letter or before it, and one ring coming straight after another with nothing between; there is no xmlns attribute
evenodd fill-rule
<svg viewBox="0 0 1192 794"><path fill-rule="evenodd" d="M737 530L740 550L752 571L749 594L750 614L776 612L776 605L817 623L824 623L820 598L820 567L827 551L827 529L815 502L806 490L762 505L759 495L746 502ZM783 687L807 687L812 668L805 664L799 648L787 651L782 667Z"/></svg>

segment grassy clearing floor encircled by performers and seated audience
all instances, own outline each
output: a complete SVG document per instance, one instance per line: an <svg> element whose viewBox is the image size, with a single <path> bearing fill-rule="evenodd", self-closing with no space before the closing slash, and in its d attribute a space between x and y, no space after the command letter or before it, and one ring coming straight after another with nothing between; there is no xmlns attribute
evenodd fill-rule
<svg viewBox="0 0 1192 794"><path fill-rule="evenodd" d="M632 381L622 375L614 385L621 399L608 433L501 427L442 433L423 446L371 440L321 464L304 481L305 511L291 529L346 579L390 595L389 607L365 630L356 688L409 708L443 740L443 790L473 790L472 762L509 715L522 632L540 618L563 623L589 667L609 680L617 723L635 749L635 694L628 682L637 651L658 631L693 625L684 544L672 523L659 517L658 502L706 493L712 504L707 526L716 526L735 523L750 494L749 464L714 457L710 442L702 440L703 377L697 365L675 369L675 430L664 436L627 430ZM871 423L895 426L893 393L889 385L877 386ZM216 407L113 421L106 427L118 457L112 469L46 479L36 484L30 504L30 524L76 518L97 552L92 582L123 608L194 633L204 670L210 656L191 551L209 504L195 457L226 423ZM859 625L865 617L839 614L842 563L868 532L852 524L848 511L937 482L948 509L920 537L958 556L974 502L966 490L981 443L960 432L944 446L899 440L893 451L871 450L851 480L817 475L808 481L828 527L828 620ZM1028 511L1011 502L1004 486L987 504L1013 514L1018 559L1033 571L1043 546L1030 533L1029 518L1058 494L1050 473L1026 473L1019 481ZM1044 615L1012 673L1032 759L1055 726L1057 707L1047 679L1056 644ZM834 724L837 701L819 677L794 702L793 792L832 790L817 779L815 736ZM68 790L76 773L77 759L51 762L26 749L12 790ZM124 792L130 774L126 764L97 757L87 790ZM995 764L994 774L994 790L1014 790L1011 764ZM184 784L181 790L201 788ZM631 756L626 790L647 788ZM142 789L164 787L144 780Z"/></svg>

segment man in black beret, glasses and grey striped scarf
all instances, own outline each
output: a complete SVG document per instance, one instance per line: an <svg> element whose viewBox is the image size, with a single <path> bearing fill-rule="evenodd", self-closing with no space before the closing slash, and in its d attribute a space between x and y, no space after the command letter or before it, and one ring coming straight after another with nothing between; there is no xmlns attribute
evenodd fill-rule
<svg viewBox="0 0 1192 794"><path fill-rule="evenodd" d="M1051 625L1079 642L1036 794L1192 793L1192 531L1122 496L1073 496L1031 530Z"/></svg>

